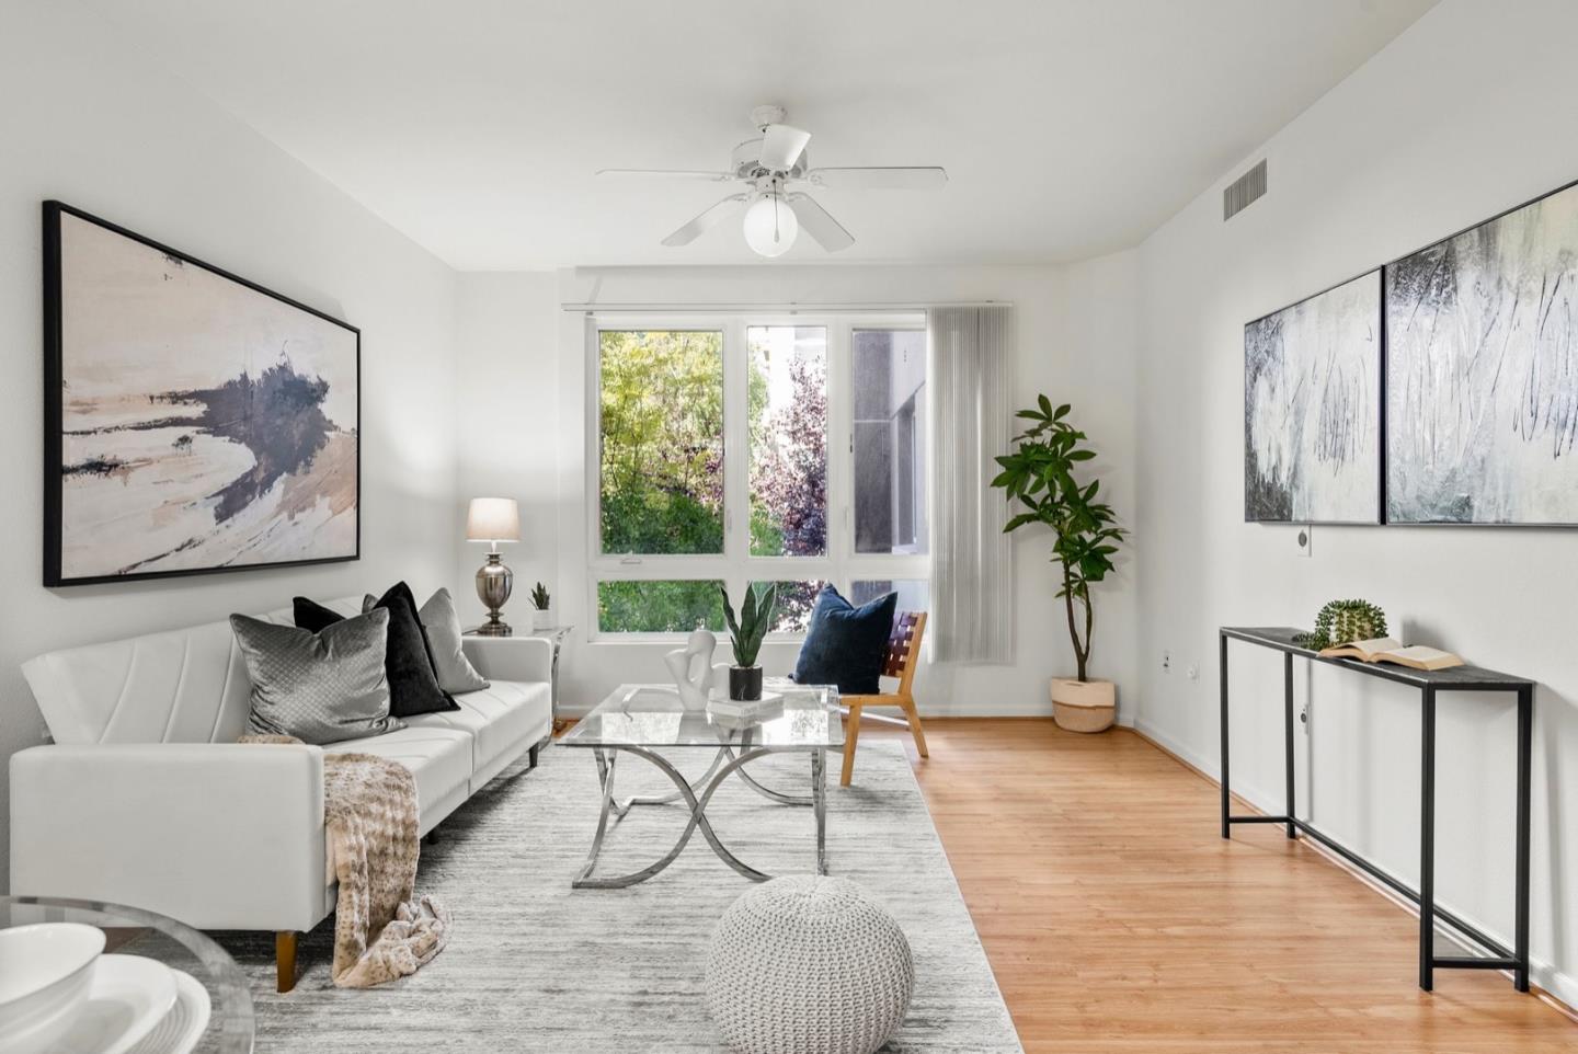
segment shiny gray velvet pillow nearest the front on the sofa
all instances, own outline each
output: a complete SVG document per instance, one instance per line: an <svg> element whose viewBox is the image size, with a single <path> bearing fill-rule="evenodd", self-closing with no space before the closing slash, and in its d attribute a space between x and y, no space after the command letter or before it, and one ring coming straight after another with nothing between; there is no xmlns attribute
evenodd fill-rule
<svg viewBox="0 0 1578 1054"><path fill-rule="evenodd" d="M230 615L252 680L248 731L322 745L406 727L390 716L388 622L379 609L312 633Z"/></svg>

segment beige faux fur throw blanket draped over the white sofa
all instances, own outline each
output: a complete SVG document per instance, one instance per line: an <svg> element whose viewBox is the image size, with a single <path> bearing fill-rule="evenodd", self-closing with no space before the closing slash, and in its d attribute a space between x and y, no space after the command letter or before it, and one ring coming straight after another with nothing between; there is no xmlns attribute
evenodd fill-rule
<svg viewBox="0 0 1578 1054"><path fill-rule="evenodd" d="M243 743L300 743L243 735ZM417 781L372 754L323 754L323 820L339 882L335 967L339 988L372 988L415 974L450 939L450 912L415 896Z"/></svg>

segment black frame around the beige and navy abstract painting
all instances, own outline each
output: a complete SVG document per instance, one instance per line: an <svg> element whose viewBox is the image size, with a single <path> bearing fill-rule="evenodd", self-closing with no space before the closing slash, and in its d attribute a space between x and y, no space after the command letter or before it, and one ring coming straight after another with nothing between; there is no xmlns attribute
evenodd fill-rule
<svg viewBox="0 0 1578 1054"><path fill-rule="evenodd" d="M65 216L73 216L84 222L101 227L110 234L128 238L142 246L155 249L183 265L191 265L208 271L224 281L234 282L252 293L260 297L268 297L289 308L301 311L308 316L328 322L339 327L352 335L355 341L355 415L357 415L357 443L355 443L355 536L353 548L350 554L346 555L328 555L328 557L311 557L301 560L275 560L275 562L252 562L252 563L221 563L215 566L197 566L197 568L177 568L164 571L128 571L118 574L85 574L85 576L68 576L62 565L63 560L63 492L65 492L65 477L63 477L63 423L65 423L65 289L63 289L63 273L62 273L62 219ZM155 241L145 235L134 230L128 230L118 224L107 219L95 216L93 213L84 211L73 205L66 205L60 200L43 202L43 335L44 335L44 428L43 428L43 477L44 477L44 538L43 538L43 582L47 589L69 587L69 585L99 585L110 582L144 582L151 579L169 579L169 577L191 577L199 574L224 574L238 571L257 571L257 570L273 570L273 568L294 568L294 566L312 566L327 563L349 563L361 559L361 330L336 319L331 314L319 311L311 305L305 305L298 300L286 297L275 292L265 286L254 281L241 278L232 271L221 267L200 260L189 252L183 252L161 241Z"/></svg>

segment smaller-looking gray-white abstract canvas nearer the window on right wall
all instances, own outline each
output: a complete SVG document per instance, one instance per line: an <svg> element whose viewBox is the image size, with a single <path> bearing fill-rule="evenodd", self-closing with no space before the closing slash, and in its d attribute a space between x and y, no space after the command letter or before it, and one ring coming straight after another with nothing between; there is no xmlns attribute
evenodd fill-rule
<svg viewBox="0 0 1578 1054"><path fill-rule="evenodd" d="M1381 522L1381 271L1243 327L1243 519Z"/></svg>

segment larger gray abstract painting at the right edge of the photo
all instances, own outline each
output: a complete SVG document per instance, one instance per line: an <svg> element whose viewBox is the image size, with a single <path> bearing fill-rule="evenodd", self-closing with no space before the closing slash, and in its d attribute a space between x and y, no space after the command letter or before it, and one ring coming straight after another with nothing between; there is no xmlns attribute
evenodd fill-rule
<svg viewBox="0 0 1578 1054"><path fill-rule="evenodd" d="M1578 524L1578 186L1385 271L1387 522Z"/></svg>

